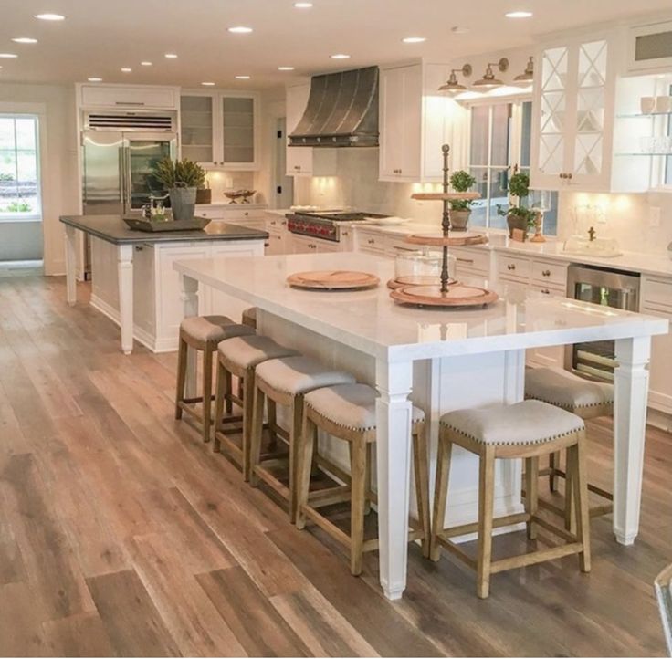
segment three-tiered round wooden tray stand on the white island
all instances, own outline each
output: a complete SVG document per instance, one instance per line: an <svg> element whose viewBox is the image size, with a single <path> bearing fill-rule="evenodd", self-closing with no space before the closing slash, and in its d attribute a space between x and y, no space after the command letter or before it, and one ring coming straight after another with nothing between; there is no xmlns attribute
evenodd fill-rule
<svg viewBox="0 0 672 659"><path fill-rule="evenodd" d="M486 306L498 299L497 293L487 288L466 286L460 282L451 283L448 277L448 247L466 246L487 243L484 235L460 234L450 235L450 202L456 200L478 199L478 193L451 193L448 184L448 157L450 147L444 144L441 148L444 155L444 181L441 193L416 193L413 199L423 201L441 201L444 204L442 232L439 235L409 235L407 243L412 245L424 245L441 247L443 260L441 264L441 277L436 284L402 286L390 292L390 297L401 304L410 304L420 307L477 307Z"/></svg>

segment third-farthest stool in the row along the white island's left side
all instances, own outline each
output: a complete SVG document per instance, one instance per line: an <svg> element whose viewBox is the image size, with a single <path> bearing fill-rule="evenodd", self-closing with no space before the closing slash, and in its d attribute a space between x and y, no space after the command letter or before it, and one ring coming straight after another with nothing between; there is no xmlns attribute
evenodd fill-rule
<svg viewBox="0 0 672 659"><path fill-rule="evenodd" d="M296 520L296 444L303 423L304 394L334 384L354 382L350 373L328 366L301 355L263 361L255 371L255 406L250 438L250 484L258 485L261 478L268 486L289 502L289 520ZM289 432L278 429L278 436L289 446L289 486L275 475L278 459L261 460L264 403L289 407Z"/></svg>

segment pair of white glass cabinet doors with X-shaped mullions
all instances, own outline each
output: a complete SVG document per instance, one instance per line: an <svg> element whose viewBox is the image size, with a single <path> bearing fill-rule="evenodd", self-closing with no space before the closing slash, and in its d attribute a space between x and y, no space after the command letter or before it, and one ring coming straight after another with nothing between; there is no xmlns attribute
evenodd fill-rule
<svg viewBox="0 0 672 659"><path fill-rule="evenodd" d="M613 49L610 35L541 47L534 85L532 188L611 189Z"/></svg>

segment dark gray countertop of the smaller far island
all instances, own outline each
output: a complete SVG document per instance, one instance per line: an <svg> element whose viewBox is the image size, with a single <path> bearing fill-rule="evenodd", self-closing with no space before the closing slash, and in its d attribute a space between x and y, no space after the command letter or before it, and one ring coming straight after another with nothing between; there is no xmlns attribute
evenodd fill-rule
<svg viewBox="0 0 672 659"><path fill-rule="evenodd" d="M132 231L121 215L61 215L64 225L90 235L95 235L113 245L129 245L133 243L175 243L189 240L266 240L266 231L249 229L247 226L211 222L202 231L165 231L149 233Z"/></svg>

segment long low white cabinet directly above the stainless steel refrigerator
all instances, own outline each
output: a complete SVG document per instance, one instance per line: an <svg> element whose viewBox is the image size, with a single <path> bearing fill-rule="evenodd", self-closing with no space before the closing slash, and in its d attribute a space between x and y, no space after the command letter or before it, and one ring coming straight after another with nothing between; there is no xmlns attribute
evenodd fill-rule
<svg viewBox="0 0 672 659"><path fill-rule="evenodd" d="M180 89L152 85L78 85L79 107L177 110Z"/></svg>

